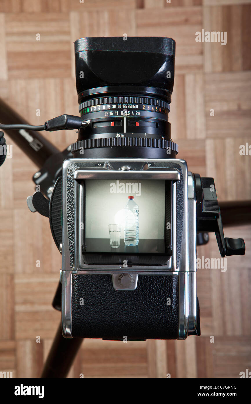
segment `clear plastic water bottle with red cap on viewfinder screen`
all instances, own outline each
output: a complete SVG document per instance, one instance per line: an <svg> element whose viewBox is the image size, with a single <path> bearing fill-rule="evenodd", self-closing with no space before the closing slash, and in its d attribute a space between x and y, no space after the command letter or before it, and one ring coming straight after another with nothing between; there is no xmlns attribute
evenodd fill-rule
<svg viewBox="0 0 251 404"><path fill-rule="evenodd" d="M139 206L134 202L133 196L129 196L128 199L125 206L124 244L137 246L139 244Z"/></svg>

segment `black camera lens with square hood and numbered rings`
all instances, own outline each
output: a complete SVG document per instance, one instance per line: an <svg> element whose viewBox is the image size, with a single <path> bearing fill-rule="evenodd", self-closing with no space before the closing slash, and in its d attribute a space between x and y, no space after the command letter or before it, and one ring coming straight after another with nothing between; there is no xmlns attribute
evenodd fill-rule
<svg viewBox="0 0 251 404"><path fill-rule="evenodd" d="M174 158L178 146L168 122L174 57L171 38L77 40L79 112L90 123L79 130L73 156Z"/></svg>

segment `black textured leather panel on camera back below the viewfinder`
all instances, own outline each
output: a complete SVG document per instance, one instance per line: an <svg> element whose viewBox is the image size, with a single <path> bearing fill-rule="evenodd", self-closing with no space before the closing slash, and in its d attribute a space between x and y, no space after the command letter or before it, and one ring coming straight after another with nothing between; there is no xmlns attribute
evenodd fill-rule
<svg viewBox="0 0 251 404"><path fill-rule="evenodd" d="M121 341L125 336L128 341L176 339L178 276L139 275L135 290L115 290L111 275L73 274L72 334Z"/></svg>

